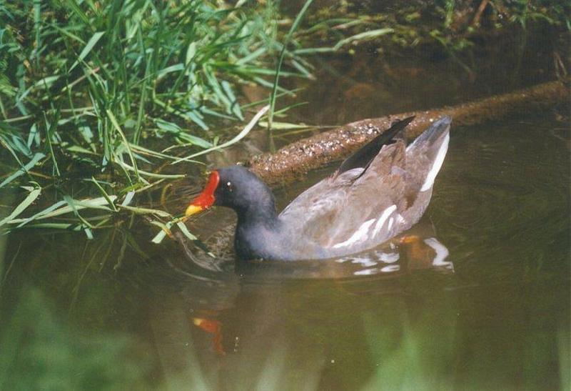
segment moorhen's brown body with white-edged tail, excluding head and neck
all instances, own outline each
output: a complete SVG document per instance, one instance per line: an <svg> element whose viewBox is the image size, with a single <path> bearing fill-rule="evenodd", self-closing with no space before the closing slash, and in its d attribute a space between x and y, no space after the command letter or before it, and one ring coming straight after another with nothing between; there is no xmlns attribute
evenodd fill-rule
<svg viewBox="0 0 571 391"><path fill-rule="evenodd" d="M360 252L418 222L448 149L450 122L443 117L408 147L403 140L385 144L367 167L325 178L294 199L279 215L292 239L290 257Z"/></svg>

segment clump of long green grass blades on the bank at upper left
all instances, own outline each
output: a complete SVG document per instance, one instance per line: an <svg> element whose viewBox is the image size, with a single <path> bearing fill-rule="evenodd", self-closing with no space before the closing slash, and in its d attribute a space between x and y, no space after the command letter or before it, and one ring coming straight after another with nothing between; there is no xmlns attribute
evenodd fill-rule
<svg viewBox="0 0 571 391"><path fill-rule="evenodd" d="M282 44L292 22L275 1L0 4L0 191L18 188L21 202L0 229L93 237L147 214L165 232L176 217L133 207L138 196L185 177L171 163L200 163L246 136L258 109L241 86L266 88L257 104L273 118L276 96L293 94L278 79L311 76L287 47L299 19Z"/></svg>

